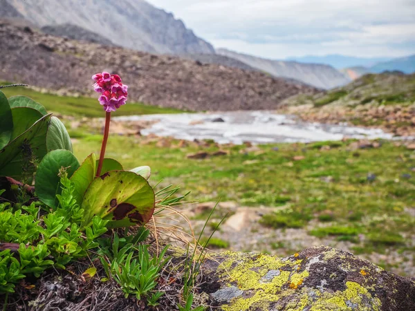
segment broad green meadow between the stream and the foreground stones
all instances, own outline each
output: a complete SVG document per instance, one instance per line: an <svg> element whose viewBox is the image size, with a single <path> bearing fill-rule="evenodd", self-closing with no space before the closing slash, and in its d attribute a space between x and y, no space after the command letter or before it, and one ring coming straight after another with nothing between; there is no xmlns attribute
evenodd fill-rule
<svg viewBox="0 0 415 311"><path fill-rule="evenodd" d="M312 234L347 241L365 234L371 243L356 246L362 252L387 245L405 249L409 234L415 234L415 219L407 214L415 202L414 153L392 142L358 151L348 150L350 142L327 143L333 146L329 151L320 151L322 143L267 145L258 155L240 153L243 147L237 146L229 149L230 156L187 160L187 153L205 149L159 148L140 140L113 136L107 156L120 159L127 169L151 166L153 184L163 179L181 185L192 191L191 199L284 205L290 211L286 216L266 216L264 221L275 227L302 227L311 219L330 221L329 229L316 228ZM100 141L100 135L81 138L74 144L76 156L98 153ZM293 161L300 155L305 159ZM370 181L369 174L376 178Z"/></svg>

